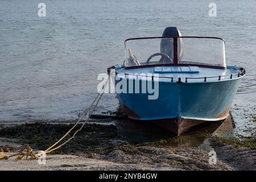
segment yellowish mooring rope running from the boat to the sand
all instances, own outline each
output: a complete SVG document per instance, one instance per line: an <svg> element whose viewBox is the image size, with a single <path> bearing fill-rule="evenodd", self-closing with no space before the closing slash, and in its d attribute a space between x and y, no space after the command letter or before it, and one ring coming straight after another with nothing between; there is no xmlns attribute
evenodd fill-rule
<svg viewBox="0 0 256 182"><path fill-rule="evenodd" d="M84 127L85 123L88 121L88 119L90 118L90 116L92 115L93 111L96 109L97 105L98 105L98 102L100 102L101 100L101 97L102 95L104 94L104 91L106 89L106 85L108 84L109 82L109 79L110 79L110 75L108 77L108 80L105 82L104 86L102 86L102 89L101 91L97 94L97 97L94 99L94 101L92 102L92 104L88 107L88 109L86 109L84 111L84 113L81 115L81 117L77 120L77 122L75 123L75 125L67 132L65 133L65 135L63 135L63 137L61 137L59 140L57 140L57 142L55 142L54 144L52 144L52 146L48 147L45 151L41 152L41 154L34 154L33 153L33 150L30 146L26 146L26 147L23 147L22 149L20 149L20 151L16 154L13 154L13 155L6 155L6 156L0 156L0 160L7 160L11 157L14 157L14 156L18 156L18 158L16 158L16 160L21 160L24 156L26 156L26 159L28 159L28 156L31 157L31 159L36 159L36 158L39 158L40 156L44 155L44 154L48 154L52 151L55 151L57 149L59 149L60 147L64 146L64 144L68 143L71 139L73 139L77 133L79 133L79 131L82 130L82 128ZM94 103L96 103L94 105ZM71 138L69 138L68 140L66 140L64 143L60 144L59 146L55 147L58 143L60 143L65 137L67 137L67 135L69 133L71 133L71 131L73 129L75 129L75 127L82 121L82 119L85 119L85 121L82 123L82 126L80 127L80 129L76 130L76 132L73 134L73 136ZM55 147L55 148L53 148ZM24 152L25 151L25 152ZM3 154L3 152L0 152L1 155Z"/></svg>

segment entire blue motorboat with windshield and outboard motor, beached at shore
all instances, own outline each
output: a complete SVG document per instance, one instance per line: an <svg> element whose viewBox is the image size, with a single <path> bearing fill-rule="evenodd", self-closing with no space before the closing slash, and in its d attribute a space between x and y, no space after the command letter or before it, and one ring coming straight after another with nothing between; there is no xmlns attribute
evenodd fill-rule
<svg viewBox="0 0 256 182"><path fill-rule="evenodd" d="M108 73L127 117L180 135L228 118L245 69L226 65L222 38L167 27L162 37L125 40L125 61Z"/></svg>

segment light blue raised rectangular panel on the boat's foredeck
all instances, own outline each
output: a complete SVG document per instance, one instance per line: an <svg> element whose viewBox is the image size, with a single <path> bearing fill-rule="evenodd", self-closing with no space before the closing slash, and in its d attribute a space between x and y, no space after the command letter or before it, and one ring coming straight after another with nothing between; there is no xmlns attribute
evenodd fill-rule
<svg viewBox="0 0 256 182"><path fill-rule="evenodd" d="M199 67L155 67L154 73L200 73Z"/></svg>

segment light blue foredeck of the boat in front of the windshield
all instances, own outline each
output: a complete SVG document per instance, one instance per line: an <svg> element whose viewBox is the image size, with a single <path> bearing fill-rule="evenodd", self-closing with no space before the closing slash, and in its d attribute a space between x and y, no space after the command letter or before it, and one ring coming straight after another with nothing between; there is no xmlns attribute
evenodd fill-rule
<svg viewBox="0 0 256 182"><path fill-rule="evenodd" d="M135 69L117 69L118 77L128 77L129 79L139 78L146 80L147 77L158 77L159 81L173 82L179 80L183 82L206 82L220 81L230 78L237 78L238 73L242 73L238 67L228 67L227 69L205 68L205 67L187 67L187 66L171 66L171 67L147 67ZM147 78L148 79L148 78ZM207 79L207 80L205 80Z"/></svg>

